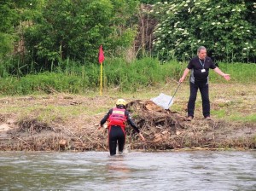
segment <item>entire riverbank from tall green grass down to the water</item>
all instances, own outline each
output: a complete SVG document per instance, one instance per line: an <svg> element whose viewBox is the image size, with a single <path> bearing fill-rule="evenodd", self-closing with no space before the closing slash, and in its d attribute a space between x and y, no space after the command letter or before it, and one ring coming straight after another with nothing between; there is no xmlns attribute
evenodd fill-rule
<svg viewBox="0 0 256 191"><path fill-rule="evenodd" d="M140 142L128 128L131 148L255 148L256 65L219 63L230 73L229 82L210 72L210 122L202 117L200 95L195 120L185 121L188 78L170 111L149 104L160 93L173 95L186 66L177 61L161 65L150 58L106 61L102 96L99 65L67 63L65 69L52 72L1 78L0 149L106 150L108 133L96 130L97 125L120 97L130 103L131 115L147 140Z"/></svg>

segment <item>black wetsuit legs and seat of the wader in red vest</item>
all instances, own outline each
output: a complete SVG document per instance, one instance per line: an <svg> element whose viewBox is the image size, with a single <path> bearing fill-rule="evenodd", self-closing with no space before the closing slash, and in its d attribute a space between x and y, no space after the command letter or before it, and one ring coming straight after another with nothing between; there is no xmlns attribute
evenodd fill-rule
<svg viewBox="0 0 256 191"><path fill-rule="evenodd" d="M119 145L119 152L125 147L125 131L120 126L111 126L108 132L108 146L110 155L116 154L116 146Z"/></svg>

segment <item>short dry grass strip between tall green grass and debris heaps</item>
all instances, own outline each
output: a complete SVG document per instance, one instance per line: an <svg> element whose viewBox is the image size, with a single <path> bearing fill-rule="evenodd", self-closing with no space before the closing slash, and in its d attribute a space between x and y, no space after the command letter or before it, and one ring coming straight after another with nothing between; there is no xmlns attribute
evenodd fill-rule
<svg viewBox="0 0 256 191"><path fill-rule="evenodd" d="M229 122L256 123L256 96L255 84L210 84L211 116L212 119L223 119ZM1 113L3 115L16 115L19 119L27 117L38 119L41 122L68 121L68 119L92 119L103 116L108 109L114 106L114 102L119 98L125 101L149 100L160 93L172 96L176 86L164 84L157 88L148 90L138 90L137 92L122 92L112 90L103 91L99 96L99 91L90 91L89 94L73 95L57 93L51 95L31 95L31 96L3 96L0 100ZM236 90L236 91L235 91ZM246 92L241 97L237 92ZM242 93L243 95L244 93ZM172 112L187 115L186 108L189 100L189 84L180 86L170 108ZM77 104L73 105L73 101ZM195 103L195 119L202 119L201 96Z"/></svg>

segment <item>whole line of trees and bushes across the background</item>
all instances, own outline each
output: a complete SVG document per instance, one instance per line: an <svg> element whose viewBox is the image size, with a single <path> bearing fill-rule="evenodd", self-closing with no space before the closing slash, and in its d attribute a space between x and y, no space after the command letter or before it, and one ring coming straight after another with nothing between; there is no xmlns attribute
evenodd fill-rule
<svg viewBox="0 0 256 191"><path fill-rule="evenodd" d="M86 67L100 44L108 57L186 60L205 45L218 61L255 62L255 8L253 0L2 0L0 76Z"/></svg>

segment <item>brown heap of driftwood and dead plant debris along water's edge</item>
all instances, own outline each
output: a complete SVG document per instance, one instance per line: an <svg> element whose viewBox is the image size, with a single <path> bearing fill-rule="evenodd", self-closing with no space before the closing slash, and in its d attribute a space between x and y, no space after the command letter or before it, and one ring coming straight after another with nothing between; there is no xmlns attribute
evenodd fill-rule
<svg viewBox="0 0 256 191"><path fill-rule="evenodd" d="M240 127L236 125L205 120L187 122L180 114L164 110L152 101L131 101L127 110L146 139L142 142L127 126L126 146L130 149L255 148L253 126L244 128L247 136L239 136ZM9 136L0 140L0 150L108 150L108 130L98 130L96 124L72 128L64 124L41 123L37 119L23 119L17 125L18 129L9 130Z"/></svg>

